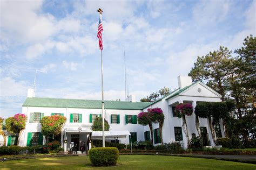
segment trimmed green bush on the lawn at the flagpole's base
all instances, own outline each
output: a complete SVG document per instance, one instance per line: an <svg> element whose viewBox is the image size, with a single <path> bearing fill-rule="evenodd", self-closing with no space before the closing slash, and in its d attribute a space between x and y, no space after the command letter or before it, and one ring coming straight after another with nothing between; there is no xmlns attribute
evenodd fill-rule
<svg viewBox="0 0 256 170"><path fill-rule="evenodd" d="M95 147L89 151L93 166L111 166L117 164L119 151L116 147Z"/></svg>

